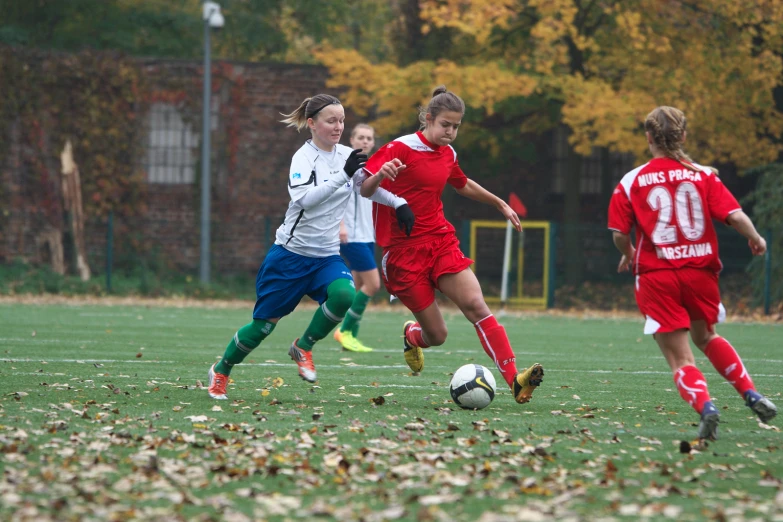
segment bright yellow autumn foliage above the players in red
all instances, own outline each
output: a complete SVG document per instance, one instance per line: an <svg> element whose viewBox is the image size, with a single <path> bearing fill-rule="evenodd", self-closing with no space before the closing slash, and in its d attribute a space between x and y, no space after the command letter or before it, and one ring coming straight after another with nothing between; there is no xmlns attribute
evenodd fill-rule
<svg viewBox="0 0 783 522"><path fill-rule="evenodd" d="M377 109L381 132L410 127L446 84L485 116L511 97L557 103L585 155L599 146L644 157L642 124L658 105L685 111L697 161L748 167L782 150L772 93L783 83L783 0L421 0L420 9L427 27L472 39L470 55L399 66L348 50L316 54L352 109ZM516 31L515 47L503 31ZM546 122L549 110L522 127Z"/></svg>

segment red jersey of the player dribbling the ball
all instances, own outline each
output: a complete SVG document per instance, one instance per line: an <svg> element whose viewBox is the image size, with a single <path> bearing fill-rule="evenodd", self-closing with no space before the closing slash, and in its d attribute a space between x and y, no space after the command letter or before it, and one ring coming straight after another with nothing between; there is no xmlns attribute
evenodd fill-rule
<svg viewBox="0 0 783 522"><path fill-rule="evenodd" d="M405 243L413 245L429 241L433 236L453 233L454 227L443 215L440 196L446 183L460 189L468 178L457 162L457 152L451 145L439 146L427 141L424 134L408 134L387 143L372 155L365 170L374 175L387 161L398 158L406 168L397 179L384 179L381 187L405 198L416 217L411 236L397 225L394 209L373 204L375 241L383 248Z"/></svg>

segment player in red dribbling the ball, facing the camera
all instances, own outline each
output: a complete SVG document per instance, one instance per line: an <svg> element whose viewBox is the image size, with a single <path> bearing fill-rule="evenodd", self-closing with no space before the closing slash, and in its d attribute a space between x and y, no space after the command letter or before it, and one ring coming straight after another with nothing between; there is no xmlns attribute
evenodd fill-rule
<svg viewBox="0 0 783 522"><path fill-rule="evenodd" d="M435 289L451 299L475 326L484 351L497 365L519 403L530 400L541 384L544 370L534 364L522 372L506 330L498 324L484 302L481 286L469 269L473 263L459 249L454 227L443 214L441 193L448 183L467 198L494 205L504 218L521 229L519 217L502 199L469 180L457 161L451 143L457 131L465 103L445 87L435 89L426 108L419 110L422 130L402 136L381 147L367 163L370 175L386 162L401 165L395 179L381 181L380 186L404 198L416 216L412 229L397 226L398 216L383 206L373 205L375 236L383 248L381 270L384 284L413 312L416 321L403 327L405 361L414 372L424 367L422 348L446 342L446 322L435 302ZM370 195L362 188L362 195ZM391 209L391 207L390 207Z"/></svg>

